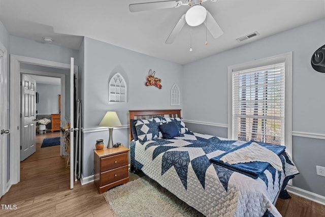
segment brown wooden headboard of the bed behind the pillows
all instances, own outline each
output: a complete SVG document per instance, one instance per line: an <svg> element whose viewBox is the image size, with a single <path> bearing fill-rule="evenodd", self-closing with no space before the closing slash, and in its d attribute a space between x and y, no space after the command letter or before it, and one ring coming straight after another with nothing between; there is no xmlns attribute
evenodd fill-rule
<svg viewBox="0 0 325 217"><path fill-rule="evenodd" d="M132 135L132 119L150 119L152 117L181 117L181 109L167 109L167 110L129 110L129 125L130 125L130 141L133 140Z"/></svg>

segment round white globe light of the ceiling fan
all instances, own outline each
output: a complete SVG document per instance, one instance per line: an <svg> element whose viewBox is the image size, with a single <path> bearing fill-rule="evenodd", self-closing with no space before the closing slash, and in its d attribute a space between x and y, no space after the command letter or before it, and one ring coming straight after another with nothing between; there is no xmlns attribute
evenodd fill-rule
<svg viewBox="0 0 325 217"><path fill-rule="evenodd" d="M193 5L185 14L186 23L190 26L198 26L207 17L207 9L202 5Z"/></svg>

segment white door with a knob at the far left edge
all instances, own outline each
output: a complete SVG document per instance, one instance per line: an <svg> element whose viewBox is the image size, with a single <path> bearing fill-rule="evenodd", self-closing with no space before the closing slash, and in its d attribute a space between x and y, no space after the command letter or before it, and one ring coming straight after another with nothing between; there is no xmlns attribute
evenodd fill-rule
<svg viewBox="0 0 325 217"><path fill-rule="evenodd" d="M7 49L0 43L0 198L7 184Z"/></svg>

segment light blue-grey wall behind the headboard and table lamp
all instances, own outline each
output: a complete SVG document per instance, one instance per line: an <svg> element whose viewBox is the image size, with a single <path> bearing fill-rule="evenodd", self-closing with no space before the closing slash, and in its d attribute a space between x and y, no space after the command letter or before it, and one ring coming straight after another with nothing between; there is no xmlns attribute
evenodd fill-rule
<svg viewBox="0 0 325 217"><path fill-rule="evenodd" d="M163 88L145 86L149 69L161 79ZM181 65L140 54L121 47L84 38L84 148L83 176L93 174L93 148L96 139L108 142L108 130L87 132L98 129L106 111L116 111L125 128L113 131L113 141L129 146L128 110L135 109L180 109L182 106L170 106L170 90L174 83L182 89ZM108 103L108 82L120 73L127 83L127 102Z"/></svg>

